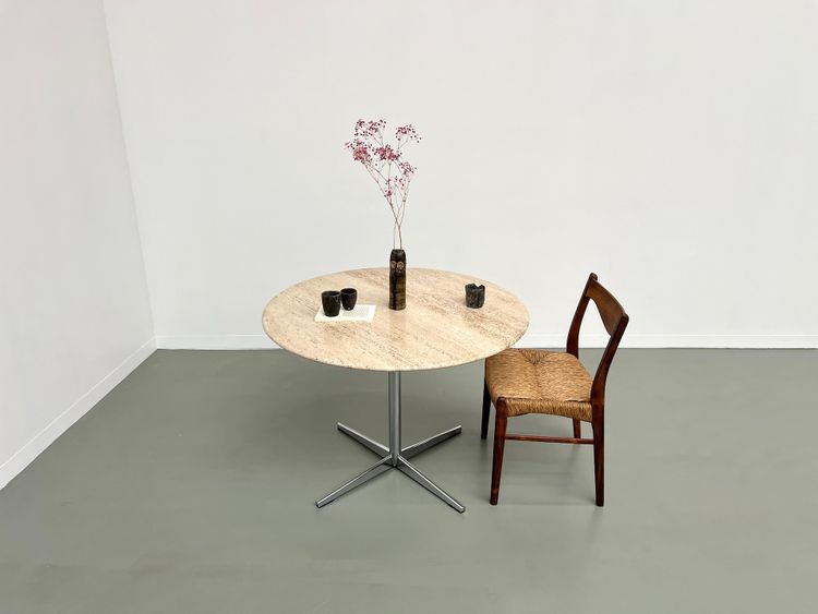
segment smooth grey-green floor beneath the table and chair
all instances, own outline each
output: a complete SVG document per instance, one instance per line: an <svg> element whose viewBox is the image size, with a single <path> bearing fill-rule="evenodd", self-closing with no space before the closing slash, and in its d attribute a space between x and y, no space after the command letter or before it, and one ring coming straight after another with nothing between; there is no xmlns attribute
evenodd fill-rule
<svg viewBox="0 0 818 614"><path fill-rule="evenodd" d="M395 471L316 509L373 461L335 422L386 438L385 374L156 352L0 492L0 612L818 609L818 352L621 351L601 509L590 447L517 442L489 505L481 377L404 377L405 440L464 425L417 466L466 514Z"/></svg>

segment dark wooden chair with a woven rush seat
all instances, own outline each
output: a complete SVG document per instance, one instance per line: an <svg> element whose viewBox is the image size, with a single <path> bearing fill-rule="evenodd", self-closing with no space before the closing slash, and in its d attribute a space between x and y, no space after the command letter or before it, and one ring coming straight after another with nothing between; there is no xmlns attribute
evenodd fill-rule
<svg viewBox="0 0 818 614"><path fill-rule="evenodd" d="M610 335L592 380L579 362L579 327L590 300L597 304L602 323ZM489 432L489 410L493 402L496 420L490 499L492 505L497 505L500 496L500 477L503 471L506 440L592 444L597 505L604 504L605 380L627 325L628 315L625 310L597 280L597 274L591 273L570 323L565 352L509 349L485 360L480 436L484 440ZM574 421L574 436L543 437L506 433L508 419L526 413L549 413L570 418ZM581 437L582 422L591 423L593 438Z"/></svg>

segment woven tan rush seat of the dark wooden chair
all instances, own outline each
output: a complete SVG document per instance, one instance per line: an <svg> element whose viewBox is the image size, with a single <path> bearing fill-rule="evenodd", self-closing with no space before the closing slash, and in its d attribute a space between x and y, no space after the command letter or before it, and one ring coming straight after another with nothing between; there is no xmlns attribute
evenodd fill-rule
<svg viewBox="0 0 818 614"><path fill-rule="evenodd" d="M550 413L591 422L592 380L573 354L509 349L485 360L485 383L495 407L508 416Z"/></svg>

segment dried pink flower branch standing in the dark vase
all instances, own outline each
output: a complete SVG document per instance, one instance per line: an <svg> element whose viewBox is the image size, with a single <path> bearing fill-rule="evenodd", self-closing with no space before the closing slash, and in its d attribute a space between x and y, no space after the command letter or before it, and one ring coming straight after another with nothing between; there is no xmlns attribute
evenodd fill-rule
<svg viewBox="0 0 818 614"><path fill-rule="evenodd" d="M401 226L409 197L409 183L414 177L416 167L402 158L401 148L407 143L419 143L420 135L412 124L399 125L395 130L395 145L384 141L386 121L362 120L356 122L352 140L345 147L352 153L352 159L361 162L377 184L381 194L389 205L395 226L393 246L404 248Z"/></svg>

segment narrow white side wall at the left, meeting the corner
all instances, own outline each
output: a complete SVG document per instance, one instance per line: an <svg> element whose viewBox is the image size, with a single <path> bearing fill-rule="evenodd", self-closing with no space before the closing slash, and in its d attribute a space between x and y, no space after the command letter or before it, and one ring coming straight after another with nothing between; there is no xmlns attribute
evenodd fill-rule
<svg viewBox="0 0 818 614"><path fill-rule="evenodd" d="M101 2L0 0L0 487L152 350Z"/></svg>

